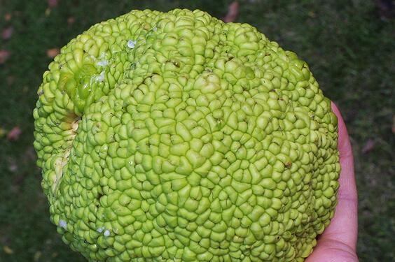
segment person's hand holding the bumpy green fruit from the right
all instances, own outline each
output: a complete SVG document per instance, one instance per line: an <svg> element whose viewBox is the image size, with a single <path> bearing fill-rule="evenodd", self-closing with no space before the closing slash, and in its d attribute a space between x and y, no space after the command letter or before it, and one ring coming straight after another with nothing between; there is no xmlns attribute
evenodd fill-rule
<svg viewBox="0 0 395 262"><path fill-rule="evenodd" d="M340 152L340 188L338 205L331 224L319 236L317 247L306 262L357 262L356 236L358 233L357 194L354 177L354 157L345 122L336 105L332 110L338 117L338 150Z"/></svg>

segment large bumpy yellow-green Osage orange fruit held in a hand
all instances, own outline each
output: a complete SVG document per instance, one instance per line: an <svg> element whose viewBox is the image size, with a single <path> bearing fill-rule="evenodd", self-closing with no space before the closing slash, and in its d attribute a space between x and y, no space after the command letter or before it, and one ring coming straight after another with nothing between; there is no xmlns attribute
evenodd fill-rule
<svg viewBox="0 0 395 262"><path fill-rule="evenodd" d="M331 103L249 24L133 10L71 40L38 94L51 220L89 261L304 261L333 217Z"/></svg>

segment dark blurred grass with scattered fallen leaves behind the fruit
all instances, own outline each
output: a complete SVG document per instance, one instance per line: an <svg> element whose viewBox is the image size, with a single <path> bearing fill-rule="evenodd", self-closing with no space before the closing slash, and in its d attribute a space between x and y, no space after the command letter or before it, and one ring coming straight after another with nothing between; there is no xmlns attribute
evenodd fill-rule
<svg viewBox="0 0 395 262"><path fill-rule="evenodd" d="M199 8L221 18L231 2L0 0L0 261L84 261L50 224L32 147L36 89L57 48L134 8ZM359 258L395 261L393 1L238 2L235 22L305 59L338 104L356 158Z"/></svg>

